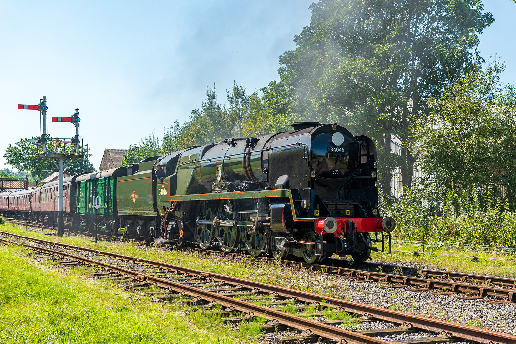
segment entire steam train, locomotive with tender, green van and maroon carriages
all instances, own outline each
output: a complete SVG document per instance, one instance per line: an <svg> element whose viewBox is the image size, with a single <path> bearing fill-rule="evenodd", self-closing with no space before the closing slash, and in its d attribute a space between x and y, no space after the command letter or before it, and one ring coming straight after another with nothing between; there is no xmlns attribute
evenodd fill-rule
<svg viewBox="0 0 516 344"><path fill-rule="evenodd" d="M366 260L377 251L370 233L395 227L379 215L373 141L337 124L292 127L66 178L65 224L310 264L333 254ZM56 199L54 184L4 192L0 213L49 220Z"/></svg>

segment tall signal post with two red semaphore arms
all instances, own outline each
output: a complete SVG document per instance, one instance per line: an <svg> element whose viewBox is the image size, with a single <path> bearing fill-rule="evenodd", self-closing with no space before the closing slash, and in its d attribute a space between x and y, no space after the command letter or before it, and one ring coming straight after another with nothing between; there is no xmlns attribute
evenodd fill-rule
<svg viewBox="0 0 516 344"><path fill-rule="evenodd" d="M54 165L59 169L59 209L58 209L58 234L63 235L63 170L68 166L68 163L72 159L83 158L84 155L79 152L79 109L75 109L71 117L52 117L52 122L72 122L75 126L75 135L73 139L63 139L62 143L75 144L75 154L59 154L58 152L47 153L46 143L49 139L46 138L46 96L42 96L38 105L24 105L18 104L18 108L22 110L39 110L40 111L40 136L37 139L30 139L29 142L41 144L42 153L39 155L41 158L50 159ZM58 162L54 161L57 159ZM65 166L65 160L68 160Z"/></svg>

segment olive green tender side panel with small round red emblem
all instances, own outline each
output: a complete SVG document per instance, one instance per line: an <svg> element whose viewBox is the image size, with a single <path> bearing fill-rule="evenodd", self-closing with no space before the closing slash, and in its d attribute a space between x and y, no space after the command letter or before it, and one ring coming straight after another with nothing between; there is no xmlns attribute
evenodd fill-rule
<svg viewBox="0 0 516 344"><path fill-rule="evenodd" d="M117 178L118 215L151 215L154 211L155 188L152 170Z"/></svg>

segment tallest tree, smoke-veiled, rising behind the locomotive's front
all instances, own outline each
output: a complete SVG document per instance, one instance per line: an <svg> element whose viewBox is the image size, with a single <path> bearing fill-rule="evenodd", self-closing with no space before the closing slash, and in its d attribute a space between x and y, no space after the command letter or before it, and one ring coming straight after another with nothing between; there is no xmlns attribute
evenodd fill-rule
<svg viewBox="0 0 516 344"><path fill-rule="evenodd" d="M425 99L480 60L477 35L491 25L479 0L320 0L280 56L282 81L294 88L293 113L340 122L375 139L381 184L391 170L411 183L410 127ZM401 159L391 154L398 137Z"/></svg>

